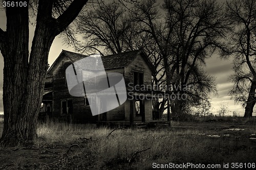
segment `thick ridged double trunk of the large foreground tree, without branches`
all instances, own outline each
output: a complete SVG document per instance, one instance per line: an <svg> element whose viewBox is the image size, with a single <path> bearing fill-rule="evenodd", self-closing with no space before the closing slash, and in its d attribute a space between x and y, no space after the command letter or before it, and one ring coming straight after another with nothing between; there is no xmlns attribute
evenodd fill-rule
<svg viewBox="0 0 256 170"><path fill-rule="evenodd" d="M47 21L38 21L29 57L28 10L7 8L6 15L11 19L7 20L8 45L2 50L4 129L0 142L3 147L14 147L36 137L48 54L55 35Z"/></svg>

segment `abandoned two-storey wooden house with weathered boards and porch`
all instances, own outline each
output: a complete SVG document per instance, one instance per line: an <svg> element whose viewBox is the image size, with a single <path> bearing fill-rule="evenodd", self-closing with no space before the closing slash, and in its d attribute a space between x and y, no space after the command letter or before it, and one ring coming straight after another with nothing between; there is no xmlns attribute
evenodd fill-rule
<svg viewBox="0 0 256 170"><path fill-rule="evenodd" d="M118 72L123 75L127 100L119 107L93 116L87 96L77 97L69 93L66 69L72 63L87 57L62 50L47 72L45 90L39 118L68 120L73 123L119 123L133 124L152 120L152 100L132 98L152 91L135 91L133 86L152 86L152 75L156 69L143 51L136 50L109 56L102 56L105 72ZM128 94L130 94L128 96ZM105 106L106 107L106 106Z"/></svg>

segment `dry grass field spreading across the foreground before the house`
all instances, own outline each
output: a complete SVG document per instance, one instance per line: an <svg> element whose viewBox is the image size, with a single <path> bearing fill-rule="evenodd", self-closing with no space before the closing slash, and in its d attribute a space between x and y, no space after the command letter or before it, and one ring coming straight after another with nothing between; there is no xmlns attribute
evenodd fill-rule
<svg viewBox="0 0 256 170"><path fill-rule="evenodd" d="M38 125L33 145L0 148L0 169L155 169L188 162L221 165L211 169L229 163L225 169L231 169L231 163L256 163L255 125L254 119L240 118L113 131L48 122Z"/></svg>

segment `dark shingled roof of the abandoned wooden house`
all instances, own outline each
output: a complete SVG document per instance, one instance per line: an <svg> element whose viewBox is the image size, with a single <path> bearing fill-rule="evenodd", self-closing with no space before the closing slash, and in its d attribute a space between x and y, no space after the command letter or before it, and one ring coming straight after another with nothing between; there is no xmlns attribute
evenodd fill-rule
<svg viewBox="0 0 256 170"><path fill-rule="evenodd" d="M84 57L88 57L83 54L78 54L78 53L62 50L62 52L60 53L59 57L55 60L55 62L57 62L59 60L59 58L61 58L61 56L63 56L63 54L68 56L73 62L83 59ZM150 67L153 74L156 74L155 67L153 66L151 61L148 59L148 57L142 50L135 50L135 51L130 51L130 52L102 56L101 60L103 62L105 69L123 68L123 67L128 66L139 54L146 61L147 65ZM48 74L51 74L52 69L54 67L56 67L55 62L52 64L52 66L48 70Z"/></svg>

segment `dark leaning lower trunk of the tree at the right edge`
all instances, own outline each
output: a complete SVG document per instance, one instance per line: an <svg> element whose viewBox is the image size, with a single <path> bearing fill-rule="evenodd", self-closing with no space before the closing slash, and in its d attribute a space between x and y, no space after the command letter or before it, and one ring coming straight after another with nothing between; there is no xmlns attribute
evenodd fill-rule
<svg viewBox="0 0 256 170"><path fill-rule="evenodd" d="M244 117L252 116L253 107L255 105L255 90L256 90L256 81L253 80L251 83L248 99L246 102Z"/></svg>

